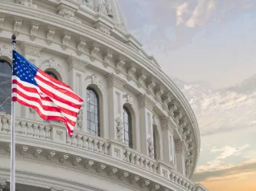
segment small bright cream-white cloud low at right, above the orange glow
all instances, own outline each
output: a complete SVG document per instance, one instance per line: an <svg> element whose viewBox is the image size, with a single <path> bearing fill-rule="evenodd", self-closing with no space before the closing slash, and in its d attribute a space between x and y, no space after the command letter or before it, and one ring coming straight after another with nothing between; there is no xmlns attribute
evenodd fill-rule
<svg viewBox="0 0 256 191"><path fill-rule="evenodd" d="M213 147L211 152L220 152L218 157L216 157L216 160L223 160L227 157L238 156L239 154L241 154L241 151L245 150L248 147L251 147L250 144L245 144L241 147L230 147L227 145L221 148Z"/></svg>

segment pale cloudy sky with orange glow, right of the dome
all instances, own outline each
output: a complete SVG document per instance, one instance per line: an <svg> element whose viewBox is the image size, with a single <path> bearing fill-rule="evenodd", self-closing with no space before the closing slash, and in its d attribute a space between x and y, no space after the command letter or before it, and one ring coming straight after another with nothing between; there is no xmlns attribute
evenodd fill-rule
<svg viewBox="0 0 256 191"><path fill-rule="evenodd" d="M201 153L192 180L256 190L256 0L120 0L128 31L188 99Z"/></svg>

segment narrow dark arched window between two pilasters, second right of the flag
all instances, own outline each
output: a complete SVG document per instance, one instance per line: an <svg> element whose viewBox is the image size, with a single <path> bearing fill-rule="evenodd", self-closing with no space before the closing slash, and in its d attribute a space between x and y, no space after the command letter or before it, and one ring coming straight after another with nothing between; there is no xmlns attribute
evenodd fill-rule
<svg viewBox="0 0 256 191"><path fill-rule="evenodd" d="M132 117L128 108L123 106L123 131L124 131L124 143L130 148L133 147L133 131L132 131Z"/></svg>

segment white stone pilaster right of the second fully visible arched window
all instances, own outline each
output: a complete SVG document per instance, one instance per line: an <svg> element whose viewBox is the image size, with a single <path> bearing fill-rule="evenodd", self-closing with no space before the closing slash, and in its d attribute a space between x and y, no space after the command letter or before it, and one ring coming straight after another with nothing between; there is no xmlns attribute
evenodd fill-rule
<svg viewBox="0 0 256 191"><path fill-rule="evenodd" d="M140 95L138 102L141 152L153 157L153 106L156 102L148 95Z"/></svg>

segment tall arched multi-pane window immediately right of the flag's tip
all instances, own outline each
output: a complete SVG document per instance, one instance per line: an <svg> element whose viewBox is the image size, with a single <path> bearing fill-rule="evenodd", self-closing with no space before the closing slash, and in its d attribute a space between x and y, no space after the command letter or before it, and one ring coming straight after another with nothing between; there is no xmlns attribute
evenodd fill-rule
<svg viewBox="0 0 256 191"><path fill-rule="evenodd" d="M100 136L99 96L92 88L87 88L87 131Z"/></svg>

